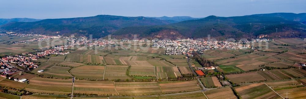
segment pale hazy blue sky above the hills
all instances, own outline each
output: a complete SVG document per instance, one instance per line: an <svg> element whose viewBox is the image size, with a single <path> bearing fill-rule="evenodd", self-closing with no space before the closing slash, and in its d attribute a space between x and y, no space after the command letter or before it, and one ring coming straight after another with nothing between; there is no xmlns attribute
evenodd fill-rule
<svg viewBox="0 0 306 99"><path fill-rule="evenodd" d="M305 13L306 0L1 0L0 18L55 19L95 15L241 16Z"/></svg>

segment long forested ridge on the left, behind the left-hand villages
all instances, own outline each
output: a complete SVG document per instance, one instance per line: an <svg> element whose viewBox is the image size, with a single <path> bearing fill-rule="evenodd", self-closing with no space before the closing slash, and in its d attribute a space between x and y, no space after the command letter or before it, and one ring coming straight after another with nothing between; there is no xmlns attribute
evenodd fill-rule
<svg viewBox="0 0 306 99"><path fill-rule="evenodd" d="M65 36L70 34L89 36L92 34L93 37L99 38L128 26L165 24L169 24L169 22L142 16L97 15L80 18L44 19L36 22L13 22L0 26L0 29L23 33L62 34Z"/></svg>

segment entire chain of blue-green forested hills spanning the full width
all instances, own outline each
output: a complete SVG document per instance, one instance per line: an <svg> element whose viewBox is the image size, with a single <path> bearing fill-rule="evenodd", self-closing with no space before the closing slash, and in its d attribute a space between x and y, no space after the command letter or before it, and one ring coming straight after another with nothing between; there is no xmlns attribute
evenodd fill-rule
<svg viewBox="0 0 306 99"><path fill-rule="evenodd" d="M2 31L22 33L81 35L99 38L293 38L306 37L306 13L271 13L234 17L124 17L97 15L82 18L44 19L37 22L13 22L0 26ZM189 20L191 19L191 20ZM184 20L181 22L176 22ZM276 28L278 29L276 32Z"/></svg>

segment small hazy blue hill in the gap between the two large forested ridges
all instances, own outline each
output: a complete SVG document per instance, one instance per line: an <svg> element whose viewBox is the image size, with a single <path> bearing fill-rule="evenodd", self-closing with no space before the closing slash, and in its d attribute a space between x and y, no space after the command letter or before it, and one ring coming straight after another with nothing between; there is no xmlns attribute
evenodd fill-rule
<svg viewBox="0 0 306 99"><path fill-rule="evenodd" d="M174 16L174 17L162 16L162 17L147 17L147 18L166 20L171 23L176 23L176 22L181 22L181 21L186 21L186 20L201 19L201 18L192 18L190 16Z"/></svg>

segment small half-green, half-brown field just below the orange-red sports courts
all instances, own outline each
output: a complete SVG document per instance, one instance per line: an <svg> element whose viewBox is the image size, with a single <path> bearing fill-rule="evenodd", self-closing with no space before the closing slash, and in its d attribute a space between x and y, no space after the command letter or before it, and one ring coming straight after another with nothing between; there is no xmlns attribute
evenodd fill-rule
<svg viewBox="0 0 306 99"><path fill-rule="evenodd" d="M207 88L213 88L213 87L222 87L217 77L205 77L201 78L202 83Z"/></svg>

